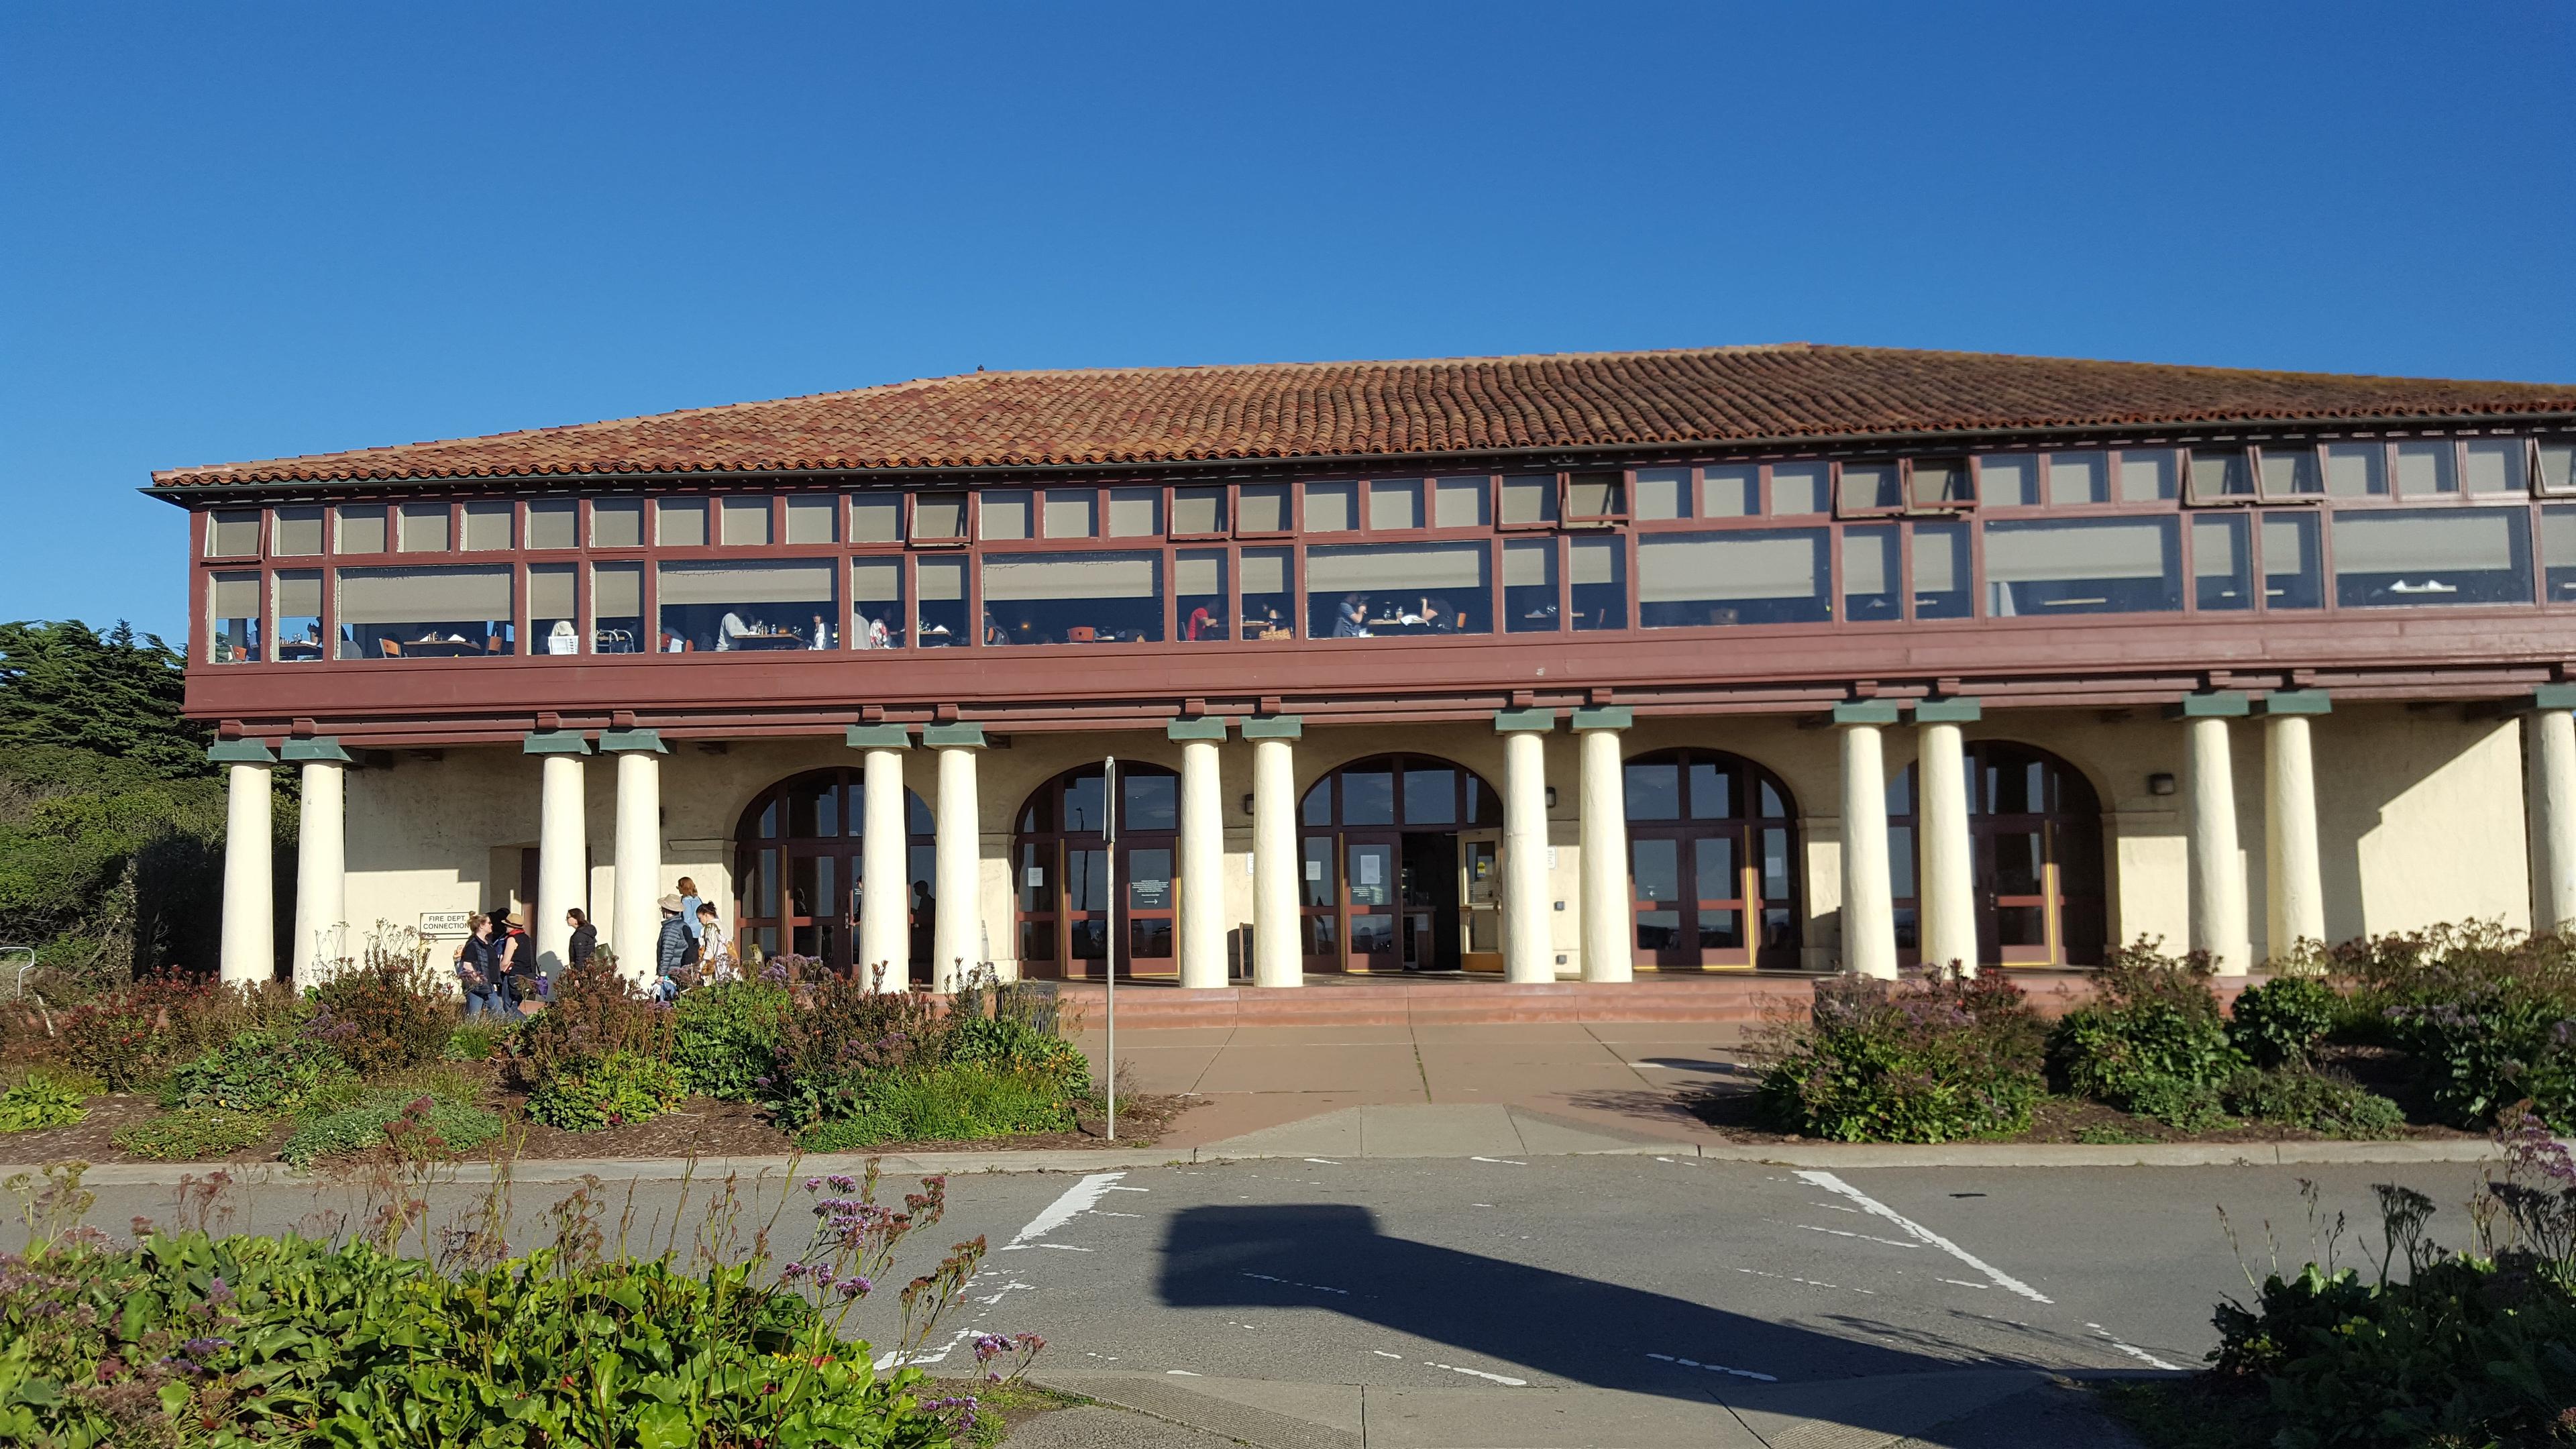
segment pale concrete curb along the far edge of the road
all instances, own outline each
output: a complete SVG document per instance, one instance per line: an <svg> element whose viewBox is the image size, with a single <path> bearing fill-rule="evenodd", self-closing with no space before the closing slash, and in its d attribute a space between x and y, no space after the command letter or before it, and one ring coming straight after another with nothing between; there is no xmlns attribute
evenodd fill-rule
<svg viewBox="0 0 2576 1449"><path fill-rule="evenodd" d="M2571 1142L2576 1147L2576 1142ZM1522 1152L1525 1158L1690 1158L1700 1163L1765 1163L1777 1168L2285 1168L2334 1163L2486 1163L2496 1147L2483 1137L2439 1137L2416 1142L1633 1142L1625 1147L1587 1147L1582 1152ZM1386 1152L1342 1158L1345 1163L1461 1160L1466 1152ZM1303 1160L1303 1152L1226 1152L1221 1147L1136 1147L1074 1152L896 1152L881 1155L878 1171L925 1173L1115 1173L1139 1168L1180 1168L1216 1163ZM739 1176L858 1173L866 1152L809 1158L556 1158L518 1163L510 1181L569 1183L585 1176L605 1181L721 1181ZM0 1178L41 1168L0 1165ZM234 1183L330 1186L343 1178L301 1176L286 1163L103 1163L82 1173L90 1186L173 1186L180 1176L232 1173ZM489 1183L492 1163L459 1163L440 1181Z"/></svg>

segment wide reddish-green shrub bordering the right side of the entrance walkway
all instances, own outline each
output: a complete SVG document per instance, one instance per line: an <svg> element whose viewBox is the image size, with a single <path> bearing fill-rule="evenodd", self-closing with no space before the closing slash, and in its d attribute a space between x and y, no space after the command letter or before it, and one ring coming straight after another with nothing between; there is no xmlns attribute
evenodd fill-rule
<svg viewBox="0 0 2576 1449"><path fill-rule="evenodd" d="M1759 1104L1783 1132L1834 1142L1955 1142L2030 1127L2043 1026L2002 972L1816 982L1806 1021L1757 1042Z"/></svg>

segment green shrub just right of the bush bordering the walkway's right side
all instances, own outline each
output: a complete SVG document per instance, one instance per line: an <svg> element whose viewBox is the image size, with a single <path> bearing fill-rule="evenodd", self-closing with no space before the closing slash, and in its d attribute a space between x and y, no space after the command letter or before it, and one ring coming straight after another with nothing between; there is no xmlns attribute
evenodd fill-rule
<svg viewBox="0 0 2576 1449"><path fill-rule="evenodd" d="M2210 990L2210 959L2154 941L2112 951L2094 1000L2066 1013L2048 1055L2069 1091L2184 1132L2218 1122L2221 1088L2246 1067Z"/></svg>

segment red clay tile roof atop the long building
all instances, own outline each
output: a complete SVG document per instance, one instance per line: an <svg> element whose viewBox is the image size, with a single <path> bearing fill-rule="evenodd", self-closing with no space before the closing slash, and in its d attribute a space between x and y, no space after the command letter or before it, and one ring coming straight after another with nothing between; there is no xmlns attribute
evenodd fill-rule
<svg viewBox="0 0 2576 1449"><path fill-rule="evenodd" d="M1479 454L2087 425L2576 413L2576 387L1767 345L976 371L152 474L157 487Z"/></svg>

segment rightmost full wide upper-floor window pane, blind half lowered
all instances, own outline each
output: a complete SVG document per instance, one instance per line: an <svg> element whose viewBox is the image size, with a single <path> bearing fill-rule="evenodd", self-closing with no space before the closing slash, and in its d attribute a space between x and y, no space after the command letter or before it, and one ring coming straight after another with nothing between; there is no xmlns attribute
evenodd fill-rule
<svg viewBox="0 0 2576 1449"><path fill-rule="evenodd" d="M2334 601L2344 608L2530 598L2530 516L2519 508L2334 516Z"/></svg>

